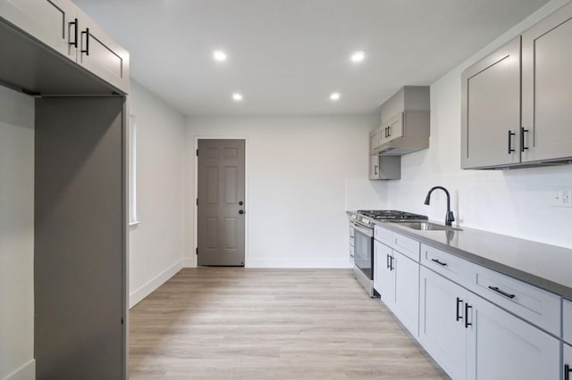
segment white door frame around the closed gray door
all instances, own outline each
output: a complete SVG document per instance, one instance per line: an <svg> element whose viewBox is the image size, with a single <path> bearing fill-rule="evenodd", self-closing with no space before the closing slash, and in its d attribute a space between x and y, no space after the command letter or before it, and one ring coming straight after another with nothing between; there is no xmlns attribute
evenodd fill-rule
<svg viewBox="0 0 572 380"><path fill-rule="evenodd" d="M196 154L198 150L198 140L244 140L244 204L246 205L244 208L244 268L248 268L248 207L250 205L248 202L248 138L241 136L195 136L195 154L193 154L193 157L195 158L195 185L193 197L195 199L198 197L198 156ZM193 204L195 213L195 227L193 228L193 238L195 242L194 262L195 267L198 267L198 257L196 254L198 248L198 204L197 202L193 202Z"/></svg>

